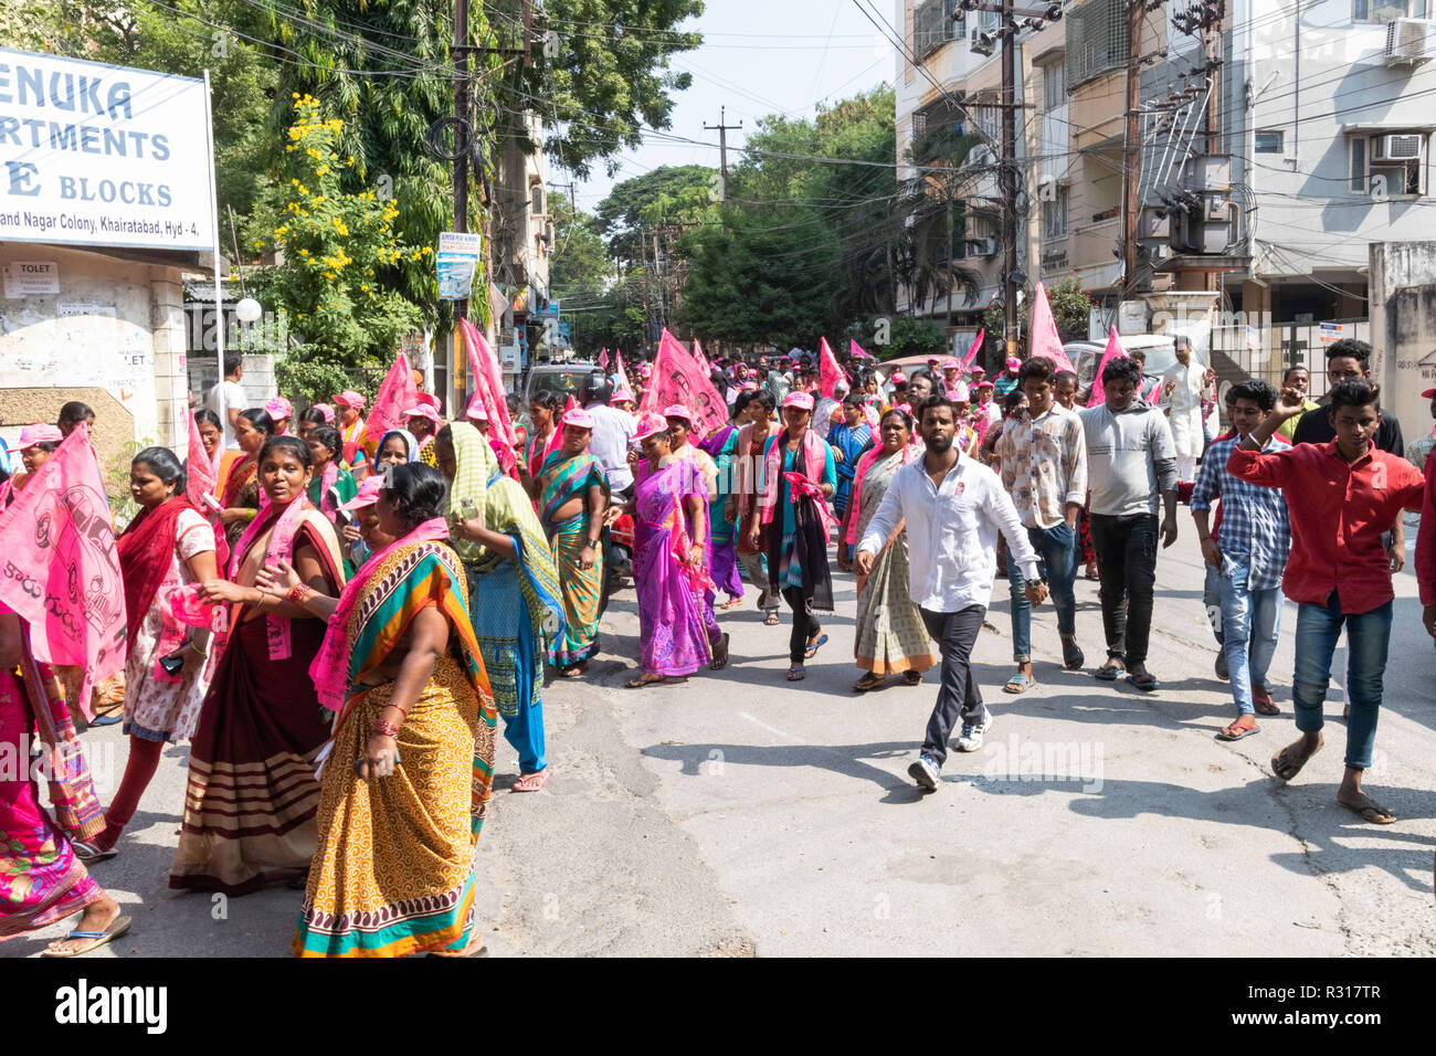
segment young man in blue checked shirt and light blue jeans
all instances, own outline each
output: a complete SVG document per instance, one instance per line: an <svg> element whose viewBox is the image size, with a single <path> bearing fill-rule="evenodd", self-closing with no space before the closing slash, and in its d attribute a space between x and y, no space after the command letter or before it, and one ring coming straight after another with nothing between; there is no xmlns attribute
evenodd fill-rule
<svg viewBox="0 0 1436 1056"><path fill-rule="evenodd" d="M1236 435L1218 440L1208 451L1192 490L1192 520L1208 576L1216 580L1222 654L1236 704L1236 720L1216 738L1238 741L1258 731L1258 714L1278 714L1267 691L1267 670L1281 632L1281 573L1291 550L1291 526L1281 488L1258 487L1226 468L1232 450L1275 407L1277 389L1264 381L1244 381L1228 391L1228 401ZM1284 447L1285 440L1271 437L1262 451ZM1222 500L1219 533L1209 523L1216 499Z"/></svg>

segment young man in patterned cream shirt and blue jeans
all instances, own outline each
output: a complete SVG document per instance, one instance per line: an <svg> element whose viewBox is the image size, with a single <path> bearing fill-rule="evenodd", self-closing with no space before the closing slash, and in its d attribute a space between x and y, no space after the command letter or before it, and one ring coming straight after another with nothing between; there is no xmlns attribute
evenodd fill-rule
<svg viewBox="0 0 1436 1056"><path fill-rule="evenodd" d="M1034 356L1017 372L1027 394L1027 411L1012 415L997 441L1002 487L1012 496L1017 514L1041 560L1057 634L1063 642L1063 667L1068 671L1086 662L1077 645L1077 514L1087 500L1087 441L1081 418L1057 404L1057 365ZM1017 565L1008 537L1008 568ZM1032 677L1032 606L1018 576L1008 579L1012 596L1012 659L1017 674L1004 691L1027 693Z"/></svg>

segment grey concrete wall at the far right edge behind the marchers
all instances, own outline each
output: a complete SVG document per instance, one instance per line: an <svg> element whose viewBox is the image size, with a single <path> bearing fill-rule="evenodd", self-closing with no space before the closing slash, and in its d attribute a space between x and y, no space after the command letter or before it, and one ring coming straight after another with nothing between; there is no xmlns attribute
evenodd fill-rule
<svg viewBox="0 0 1436 1056"><path fill-rule="evenodd" d="M1410 443L1432 428L1420 394L1436 386L1436 241L1373 243L1369 259L1371 376Z"/></svg>

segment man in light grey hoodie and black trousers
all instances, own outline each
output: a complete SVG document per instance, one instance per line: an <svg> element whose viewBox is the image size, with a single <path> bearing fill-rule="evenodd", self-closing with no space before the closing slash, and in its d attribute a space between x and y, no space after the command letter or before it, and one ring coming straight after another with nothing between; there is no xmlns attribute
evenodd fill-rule
<svg viewBox="0 0 1436 1056"><path fill-rule="evenodd" d="M1157 494L1166 549L1176 542L1176 450L1166 418L1139 397L1142 368L1134 359L1109 362L1101 385L1106 402L1081 412L1087 509L1107 634L1107 662L1096 677L1114 682L1126 670L1129 682L1152 693L1162 688L1146 665L1157 569Z"/></svg>

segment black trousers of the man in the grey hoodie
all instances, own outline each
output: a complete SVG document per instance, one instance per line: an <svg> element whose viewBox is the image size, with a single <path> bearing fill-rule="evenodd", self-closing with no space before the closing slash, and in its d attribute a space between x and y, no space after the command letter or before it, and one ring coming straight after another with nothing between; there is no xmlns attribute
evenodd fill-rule
<svg viewBox="0 0 1436 1056"><path fill-rule="evenodd" d="M1101 628L1107 657L1129 668L1147 662L1152 586L1157 578L1157 517L1091 514L1091 545L1101 579ZM1123 605L1123 601L1127 603Z"/></svg>

